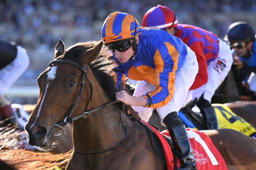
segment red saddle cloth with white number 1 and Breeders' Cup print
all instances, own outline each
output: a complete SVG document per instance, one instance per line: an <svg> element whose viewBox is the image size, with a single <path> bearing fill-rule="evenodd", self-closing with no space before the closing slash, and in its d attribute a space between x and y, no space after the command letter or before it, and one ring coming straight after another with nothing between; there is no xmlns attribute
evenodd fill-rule
<svg viewBox="0 0 256 170"><path fill-rule="evenodd" d="M141 120L142 121L142 120ZM156 134L163 146L165 159L167 163L167 170L174 169L173 154L171 148L163 135L169 136L168 130L161 133L150 124L142 121ZM227 165L219 153L217 148L213 145L211 138L202 132L187 128L191 149L193 150L196 167L198 170L227 170ZM177 165L180 168L180 159L177 158Z"/></svg>

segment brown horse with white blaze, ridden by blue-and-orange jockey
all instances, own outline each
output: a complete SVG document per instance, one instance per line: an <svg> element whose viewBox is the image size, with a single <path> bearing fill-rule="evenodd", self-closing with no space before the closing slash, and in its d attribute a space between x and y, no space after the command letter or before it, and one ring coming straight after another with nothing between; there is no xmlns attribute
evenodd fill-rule
<svg viewBox="0 0 256 170"><path fill-rule="evenodd" d="M54 60L37 79L38 103L25 125L28 143L49 147L54 134L72 122L74 149L66 169L166 170L147 129L122 113L115 101L111 56L102 42L65 49L59 40ZM255 168L254 139L229 129L204 133L212 138L228 169Z"/></svg>

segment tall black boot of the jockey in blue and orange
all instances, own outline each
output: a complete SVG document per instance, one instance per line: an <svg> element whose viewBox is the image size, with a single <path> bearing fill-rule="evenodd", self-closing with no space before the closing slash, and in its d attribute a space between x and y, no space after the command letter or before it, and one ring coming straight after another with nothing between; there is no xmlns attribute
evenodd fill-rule
<svg viewBox="0 0 256 170"><path fill-rule="evenodd" d="M186 127L178 117L177 112L169 113L163 119L163 123L167 125L175 151L181 158L181 169L197 169L194 154L190 148Z"/></svg>

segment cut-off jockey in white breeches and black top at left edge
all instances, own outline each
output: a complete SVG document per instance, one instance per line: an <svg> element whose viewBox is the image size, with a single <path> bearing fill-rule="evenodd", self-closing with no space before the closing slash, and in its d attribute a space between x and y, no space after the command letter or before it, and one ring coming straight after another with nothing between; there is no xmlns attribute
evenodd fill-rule
<svg viewBox="0 0 256 170"><path fill-rule="evenodd" d="M28 66L29 56L24 48L0 40L0 117L3 120L14 115L4 92L18 80ZM16 124L15 119L10 121Z"/></svg>

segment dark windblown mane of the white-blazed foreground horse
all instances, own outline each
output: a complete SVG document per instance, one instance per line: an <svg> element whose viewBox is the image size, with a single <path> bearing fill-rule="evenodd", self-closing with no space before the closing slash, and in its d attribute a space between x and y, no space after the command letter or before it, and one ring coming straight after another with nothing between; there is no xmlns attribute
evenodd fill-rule
<svg viewBox="0 0 256 170"><path fill-rule="evenodd" d="M63 59L69 58L70 60L81 63L79 61L79 55L84 51L95 47L99 41L88 41L85 43L77 43L65 50L63 54ZM98 58L89 64L91 70L93 71L97 81L99 82L101 88L105 91L106 95L115 100L115 82L113 79L113 68L115 67L115 62L110 60L112 53L107 50L103 45Z"/></svg>

